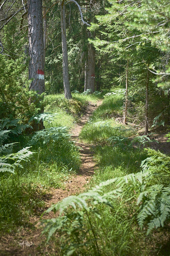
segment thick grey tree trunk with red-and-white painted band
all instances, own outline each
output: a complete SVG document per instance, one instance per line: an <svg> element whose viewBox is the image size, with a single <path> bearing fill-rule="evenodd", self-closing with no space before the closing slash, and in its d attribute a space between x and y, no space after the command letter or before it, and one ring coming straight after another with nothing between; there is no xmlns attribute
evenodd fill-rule
<svg viewBox="0 0 170 256"><path fill-rule="evenodd" d="M42 0L28 0L29 79L30 90L45 91Z"/></svg>

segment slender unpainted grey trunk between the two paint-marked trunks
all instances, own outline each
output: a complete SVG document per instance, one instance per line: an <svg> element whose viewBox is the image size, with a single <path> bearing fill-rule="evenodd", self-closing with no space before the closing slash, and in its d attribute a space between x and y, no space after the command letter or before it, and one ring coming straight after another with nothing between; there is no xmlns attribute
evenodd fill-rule
<svg viewBox="0 0 170 256"><path fill-rule="evenodd" d="M66 38L66 23L65 23L65 4L64 0L60 2L61 9L61 44L63 53L63 83L65 98L71 99L69 69L68 69L68 54L67 54L67 38Z"/></svg>

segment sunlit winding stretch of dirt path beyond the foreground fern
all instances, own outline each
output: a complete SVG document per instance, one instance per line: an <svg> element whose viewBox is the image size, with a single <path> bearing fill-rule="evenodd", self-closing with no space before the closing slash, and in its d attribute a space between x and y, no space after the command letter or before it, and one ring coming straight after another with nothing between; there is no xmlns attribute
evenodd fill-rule
<svg viewBox="0 0 170 256"><path fill-rule="evenodd" d="M65 197L75 195L76 193L83 191L84 186L89 183L90 178L94 174L95 162L93 161L93 152L90 151L90 147L87 144L80 142L78 136L82 127L88 121L89 117L92 116L93 112L97 109L101 102L102 101L99 100L96 105L90 102L86 107L86 112L84 115L80 117L78 123L71 130L71 137L73 141L75 141L76 146L80 147L82 164L76 175L73 176L71 180L64 182L65 190L52 189L51 192L53 196L50 201L48 200L48 205L52 205Z"/></svg>

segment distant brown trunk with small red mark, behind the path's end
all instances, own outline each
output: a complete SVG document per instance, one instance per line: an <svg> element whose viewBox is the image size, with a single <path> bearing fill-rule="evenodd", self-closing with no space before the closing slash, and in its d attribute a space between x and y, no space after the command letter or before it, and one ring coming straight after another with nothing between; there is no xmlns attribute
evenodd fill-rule
<svg viewBox="0 0 170 256"><path fill-rule="evenodd" d="M88 77L87 89L95 91L95 49L92 44L88 45Z"/></svg>

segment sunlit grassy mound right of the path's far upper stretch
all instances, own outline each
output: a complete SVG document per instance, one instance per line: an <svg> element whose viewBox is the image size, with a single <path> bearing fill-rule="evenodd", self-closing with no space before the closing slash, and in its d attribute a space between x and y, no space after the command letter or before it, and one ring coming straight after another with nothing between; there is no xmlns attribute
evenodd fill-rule
<svg viewBox="0 0 170 256"><path fill-rule="evenodd" d="M136 131L132 127L116 122L116 117L121 117L123 113L122 94L105 98L101 106L95 110L93 116L83 127L80 139L97 143L106 141L111 136L132 136Z"/></svg>

